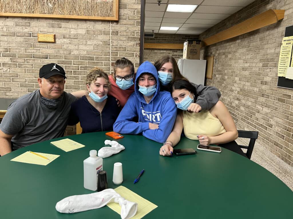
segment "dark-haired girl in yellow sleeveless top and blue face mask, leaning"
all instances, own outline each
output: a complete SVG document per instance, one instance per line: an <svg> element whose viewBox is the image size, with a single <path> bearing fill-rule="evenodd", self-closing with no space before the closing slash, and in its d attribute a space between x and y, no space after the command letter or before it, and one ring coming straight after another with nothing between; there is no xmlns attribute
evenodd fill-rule
<svg viewBox="0 0 293 219"><path fill-rule="evenodd" d="M160 149L161 155L171 155L183 128L187 138L199 140L202 145L224 144L238 138L234 120L222 101L219 100L210 110L200 111L201 107L195 103L196 90L187 80L175 81L171 94L182 111L178 111L173 130Z"/></svg>

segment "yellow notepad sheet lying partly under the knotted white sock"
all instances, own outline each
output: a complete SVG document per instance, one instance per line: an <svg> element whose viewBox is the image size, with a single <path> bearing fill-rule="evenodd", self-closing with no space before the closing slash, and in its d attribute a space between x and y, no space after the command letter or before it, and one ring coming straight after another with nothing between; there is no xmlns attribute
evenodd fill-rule
<svg viewBox="0 0 293 219"><path fill-rule="evenodd" d="M154 210L156 207L158 207L155 204L148 201L147 199L144 199L143 197L132 192L131 190L127 189L124 186L117 187L115 191L119 193L121 197L125 198L126 200L137 203L137 212L136 212L136 215L132 217L132 219L142 218L144 215L148 214L149 212ZM118 214L121 213L121 207L118 203L111 202L107 204L107 206L111 208L113 211L116 211Z"/></svg>

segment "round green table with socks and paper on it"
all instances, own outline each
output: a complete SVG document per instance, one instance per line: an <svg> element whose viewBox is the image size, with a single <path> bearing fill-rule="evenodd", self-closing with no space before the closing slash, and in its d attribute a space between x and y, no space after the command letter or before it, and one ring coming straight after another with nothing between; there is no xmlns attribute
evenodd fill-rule
<svg viewBox="0 0 293 219"><path fill-rule="evenodd" d="M61 199L93 191L83 186L83 160L105 147L105 132L66 136L86 147L64 152L40 142L0 157L0 218L120 218L107 206L74 214L55 210ZM293 192L253 161L222 148L221 153L173 157L159 155L162 144L142 135L117 140L125 150L103 159L108 187L127 187L158 207L144 218L292 218ZM198 141L182 138L176 148L196 149ZM10 161L25 151L58 154L47 166ZM123 183L112 182L121 162ZM133 184L145 169L139 182Z"/></svg>

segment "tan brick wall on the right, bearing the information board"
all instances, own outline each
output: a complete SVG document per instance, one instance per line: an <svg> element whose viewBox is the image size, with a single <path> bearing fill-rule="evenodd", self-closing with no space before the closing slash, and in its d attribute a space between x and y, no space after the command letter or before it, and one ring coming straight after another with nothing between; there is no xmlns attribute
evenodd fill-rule
<svg viewBox="0 0 293 219"><path fill-rule="evenodd" d="M259 131L258 142L293 166L293 90L277 87L285 27L293 23L293 1L257 0L200 35L205 39L268 9L285 9L282 21L203 47L214 55L213 79L238 129ZM293 82L293 81L292 81Z"/></svg>

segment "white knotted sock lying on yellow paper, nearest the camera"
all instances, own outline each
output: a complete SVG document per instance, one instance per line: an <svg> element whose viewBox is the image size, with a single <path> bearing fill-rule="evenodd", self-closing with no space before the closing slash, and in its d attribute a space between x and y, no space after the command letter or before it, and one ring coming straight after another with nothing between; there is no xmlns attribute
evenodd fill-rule
<svg viewBox="0 0 293 219"><path fill-rule="evenodd" d="M73 195L58 201L56 210L60 213L76 213L91 209L101 208L110 202L119 203L121 206L121 218L132 218L137 212L137 203L127 201L113 189L105 189L84 195Z"/></svg>

